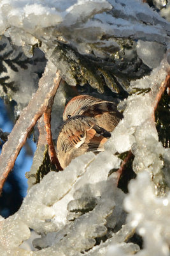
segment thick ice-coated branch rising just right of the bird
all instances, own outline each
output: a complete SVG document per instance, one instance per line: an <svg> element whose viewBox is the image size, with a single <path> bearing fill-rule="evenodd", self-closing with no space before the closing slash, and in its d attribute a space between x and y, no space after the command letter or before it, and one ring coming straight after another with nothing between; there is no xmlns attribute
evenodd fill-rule
<svg viewBox="0 0 170 256"><path fill-rule="evenodd" d="M168 54L167 54L168 56ZM124 110L124 119L118 124L113 131L111 140L107 143L112 148L113 152L125 152L132 149L135 156L133 162L134 172L147 171L150 175L155 175L155 184L163 175L164 161L166 154L169 154L169 149L165 150L162 143L159 142L153 109L155 99L159 92L160 84L164 82L167 76L168 63L166 60L155 68L152 74L138 81L131 82L129 92L133 88L148 89L148 93L136 93L129 96L124 102L120 102L118 108ZM106 143L106 148L108 147ZM152 146L151 146L152 145ZM162 157L161 157L162 156ZM167 168L167 167L166 167ZM159 178L157 179L157 175ZM162 176L162 180L164 175Z"/></svg>

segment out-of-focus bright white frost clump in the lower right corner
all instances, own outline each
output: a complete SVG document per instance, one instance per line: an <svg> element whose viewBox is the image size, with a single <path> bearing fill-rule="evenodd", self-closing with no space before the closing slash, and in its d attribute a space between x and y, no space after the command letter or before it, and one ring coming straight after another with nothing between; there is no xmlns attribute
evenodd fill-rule
<svg viewBox="0 0 170 256"><path fill-rule="evenodd" d="M138 254L169 255L170 193L162 198L155 196L147 173L139 173L137 180L131 181L129 192L124 201L129 212L127 221L144 239L145 248Z"/></svg>

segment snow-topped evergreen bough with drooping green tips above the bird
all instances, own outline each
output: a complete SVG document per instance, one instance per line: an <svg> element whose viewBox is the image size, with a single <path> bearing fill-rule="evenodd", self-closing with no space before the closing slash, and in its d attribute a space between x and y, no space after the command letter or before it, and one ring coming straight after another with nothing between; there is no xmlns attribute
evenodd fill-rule
<svg viewBox="0 0 170 256"><path fill-rule="evenodd" d="M148 74L159 65L169 42L169 22L142 1L3 0L0 13L0 34L10 36L27 56L41 45L64 81L89 83L99 92L104 84L121 92L121 86L129 85L127 77L131 81ZM147 58L151 50L153 60Z"/></svg>

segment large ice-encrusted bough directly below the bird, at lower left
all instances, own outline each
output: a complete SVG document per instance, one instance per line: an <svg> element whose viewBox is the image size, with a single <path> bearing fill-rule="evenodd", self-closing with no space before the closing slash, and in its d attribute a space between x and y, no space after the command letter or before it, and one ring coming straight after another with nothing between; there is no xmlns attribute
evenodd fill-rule
<svg viewBox="0 0 170 256"><path fill-rule="evenodd" d="M28 235L26 237L26 230L29 229L23 230L23 223L25 223L25 228L34 228L36 232L48 233L60 229L59 235L58 233L55 236L49 234L46 239L43 238L43 244L47 243L46 246L50 246L49 249L44 249L46 253L52 253L52 251L56 253L56 250L59 250L63 255L65 255L64 253L67 255L66 248L70 248L69 253L73 255L73 252L81 252L92 248L96 243L94 238L106 234L107 228L105 225L113 228L118 224L120 219L117 216L120 217L123 211L121 205L124 193L115 186L116 180L112 177L113 175L108 178L110 168L117 168L120 160L117 157L110 158L104 169L100 164L100 161L102 163L106 159L108 153L104 152L101 156L95 157L90 152L78 157L69 164L64 172L50 172L39 184L32 186L17 214L3 221L4 227L7 227L6 221L11 224L13 219L15 223L20 220L17 225L18 233L15 230L10 233L11 237L15 236L17 241L13 239L10 241L8 236L4 238L5 230L1 230L3 232L1 240L6 239L9 248L18 246L22 239L28 238ZM98 164L98 168L96 168L96 164ZM87 179L88 176L91 179ZM97 176L98 179L95 178ZM85 198L89 198L90 195L96 203L93 204L91 211L84 205L83 209L87 209L87 212L82 214L81 202L84 204ZM62 212L60 212L60 209L62 209ZM79 218L76 214L75 216L72 214L72 218L76 218L76 220L69 221L71 220L69 211L80 211ZM108 219L110 221L107 224L108 217L111 219ZM61 234L62 228L64 229L64 237ZM80 236L81 239L79 239ZM122 241L124 241L123 238ZM36 242L36 244L39 243L41 243L41 239ZM76 246L73 247L72 244L76 244ZM3 247L5 248L5 246ZM36 254L35 252L33 255Z"/></svg>

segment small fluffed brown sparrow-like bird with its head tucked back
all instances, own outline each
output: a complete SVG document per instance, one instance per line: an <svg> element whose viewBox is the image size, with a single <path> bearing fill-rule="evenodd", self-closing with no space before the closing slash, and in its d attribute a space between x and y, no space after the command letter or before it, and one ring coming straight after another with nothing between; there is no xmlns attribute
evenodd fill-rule
<svg viewBox="0 0 170 256"><path fill-rule="evenodd" d="M57 157L64 169L85 152L104 151L104 143L123 118L114 102L79 95L64 109L64 124L57 139Z"/></svg>

